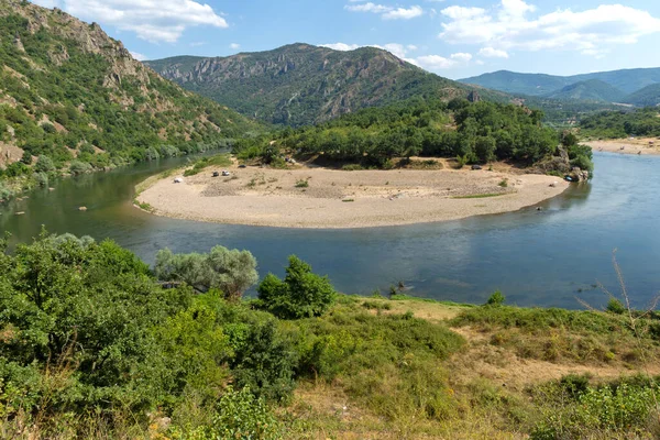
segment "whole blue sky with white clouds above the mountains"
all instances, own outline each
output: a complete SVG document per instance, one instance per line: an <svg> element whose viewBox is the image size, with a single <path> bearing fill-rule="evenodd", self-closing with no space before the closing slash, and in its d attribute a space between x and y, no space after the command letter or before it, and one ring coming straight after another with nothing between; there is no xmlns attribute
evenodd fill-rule
<svg viewBox="0 0 660 440"><path fill-rule="evenodd" d="M449 78L660 67L658 0L35 0L138 57L376 45ZM624 4L625 3L625 4Z"/></svg>

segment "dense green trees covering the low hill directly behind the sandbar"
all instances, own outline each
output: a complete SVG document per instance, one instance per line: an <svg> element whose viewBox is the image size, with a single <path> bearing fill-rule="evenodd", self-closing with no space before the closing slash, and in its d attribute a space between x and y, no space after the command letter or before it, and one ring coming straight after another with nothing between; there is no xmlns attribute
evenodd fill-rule
<svg viewBox="0 0 660 440"><path fill-rule="evenodd" d="M463 163L512 160L531 165L556 154L562 141L573 142L566 146L576 142L543 127L542 118L541 111L514 105L413 99L345 114L317 127L285 129L274 144L265 138L243 141L237 144L237 152L270 162L280 154L278 148L284 148L377 167L387 167L395 157L417 155L459 157Z"/></svg>

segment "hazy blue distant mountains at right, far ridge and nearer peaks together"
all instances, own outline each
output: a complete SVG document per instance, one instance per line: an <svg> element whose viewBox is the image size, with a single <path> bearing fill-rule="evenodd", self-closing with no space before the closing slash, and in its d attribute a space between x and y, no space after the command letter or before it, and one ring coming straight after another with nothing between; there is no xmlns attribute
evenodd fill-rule
<svg viewBox="0 0 660 440"><path fill-rule="evenodd" d="M660 68L600 72L574 76L518 74L499 70L460 82L514 95L558 100L660 105Z"/></svg>

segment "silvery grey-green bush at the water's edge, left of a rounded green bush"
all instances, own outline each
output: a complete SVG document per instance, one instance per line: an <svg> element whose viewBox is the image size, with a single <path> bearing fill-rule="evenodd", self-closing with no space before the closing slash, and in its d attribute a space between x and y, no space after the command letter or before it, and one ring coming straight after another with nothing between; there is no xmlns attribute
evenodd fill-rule
<svg viewBox="0 0 660 440"><path fill-rule="evenodd" d="M216 288L229 299L239 299L258 275L256 260L249 251L215 246L208 254L174 254L168 249L156 255L158 279L185 282L202 292Z"/></svg>

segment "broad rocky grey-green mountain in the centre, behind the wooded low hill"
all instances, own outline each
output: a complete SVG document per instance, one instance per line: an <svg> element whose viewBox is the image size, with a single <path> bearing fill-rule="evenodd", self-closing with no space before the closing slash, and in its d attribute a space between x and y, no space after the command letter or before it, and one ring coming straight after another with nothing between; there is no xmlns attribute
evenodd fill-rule
<svg viewBox="0 0 660 440"><path fill-rule="evenodd" d="M292 127L415 96L468 97L474 89L375 47L339 52L297 43L229 57L179 56L145 64L243 114ZM479 92L485 99L508 100L504 94Z"/></svg>

